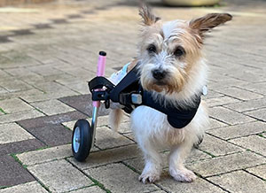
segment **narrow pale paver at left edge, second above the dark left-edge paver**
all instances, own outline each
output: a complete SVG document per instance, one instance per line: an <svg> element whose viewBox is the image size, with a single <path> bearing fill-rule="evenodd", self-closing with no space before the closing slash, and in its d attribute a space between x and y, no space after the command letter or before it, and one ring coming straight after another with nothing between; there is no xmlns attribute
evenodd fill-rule
<svg viewBox="0 0 266 193"><path fill-rule="evenodd" d="M1 123L10 123L19 120L32 119L37 117L43 117L44 114L42 112L38 112L36 110L30 110L27 112L14 112L12 114L4 114L0 116L0 124Z"/></svg>

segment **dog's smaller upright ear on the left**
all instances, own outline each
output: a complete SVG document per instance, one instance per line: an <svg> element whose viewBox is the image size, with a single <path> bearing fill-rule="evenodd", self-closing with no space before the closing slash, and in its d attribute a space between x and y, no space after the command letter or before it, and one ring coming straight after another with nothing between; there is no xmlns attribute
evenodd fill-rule
<svg viewBox="0 0 266 193"><path fill-rule="evenodd" d="M142 19L143 19L143 23L146 26L152 26L154 23L156 23L156 21L160 20L159 17L156 17L153 12L151 11L151 9L147 6L147 4L141 4L140 8L139 8L139 13L138 13Z"/></svg>

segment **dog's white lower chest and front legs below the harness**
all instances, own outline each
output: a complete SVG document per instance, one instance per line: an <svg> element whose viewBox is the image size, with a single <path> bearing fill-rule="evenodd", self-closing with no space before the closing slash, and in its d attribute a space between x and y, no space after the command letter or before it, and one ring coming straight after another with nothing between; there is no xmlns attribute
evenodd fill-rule
<svg viewBox="0 0 266 193"><path fill-rule="evenodd" d="M200 103L192 122L182 129L171 127L167 116L161 112L147 106L137 107L131 113L131 128L145 156L145 169L139 180L145 183L160 178L161 159L158 147L168 147L171 150L169 173L176 181L195 180L196 176L185 169L184 158L190 153L193 143L197 143L199 136L204 135L207 127L208 115L204 102Z"/></svg>

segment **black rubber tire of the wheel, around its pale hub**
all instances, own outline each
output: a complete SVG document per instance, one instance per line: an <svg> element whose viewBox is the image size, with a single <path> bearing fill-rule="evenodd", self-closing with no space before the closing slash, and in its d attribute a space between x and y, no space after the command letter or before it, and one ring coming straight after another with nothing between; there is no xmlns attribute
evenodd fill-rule
<svg viewBox="0 0 266 193"><path fill-rule="evenodd" d="M76 127L80 128L80 146L78 151L74 151L74 132ZM87 120L78 120L74 124L72 135L72 152L74 158L77 161L84 161L90 154L90 148L92 146L93 128L90 127L90 123Z"/></svg>

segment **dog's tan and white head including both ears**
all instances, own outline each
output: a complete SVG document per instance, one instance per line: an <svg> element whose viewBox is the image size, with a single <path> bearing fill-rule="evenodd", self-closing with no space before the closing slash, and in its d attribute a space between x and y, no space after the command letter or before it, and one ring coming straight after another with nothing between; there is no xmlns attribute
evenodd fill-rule
<svg viewBox="0 0 266 193"><path fill-rule="evenodd" d="M184 89L192 69L202 60L204 35L226 21L227 13L210 13L199 19L162 22L143 5L143 19L138 60L141 84L146 90L172 94Z"/></svg>

